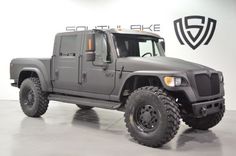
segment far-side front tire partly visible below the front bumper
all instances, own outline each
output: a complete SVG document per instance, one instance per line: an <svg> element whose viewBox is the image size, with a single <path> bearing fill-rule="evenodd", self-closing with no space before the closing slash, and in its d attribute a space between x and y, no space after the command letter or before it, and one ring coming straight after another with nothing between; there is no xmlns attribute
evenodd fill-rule
<svg viewBox="0 0 236 156"><path fill-rule="evenodd" d="M221 119L224 116L224 112L225 110L223 108L221 111L217 113L210 114L202 118L184 116L183 121L185 122L186 125L194 129L208 130L209 128L216 126L221 121Z"/></svg>

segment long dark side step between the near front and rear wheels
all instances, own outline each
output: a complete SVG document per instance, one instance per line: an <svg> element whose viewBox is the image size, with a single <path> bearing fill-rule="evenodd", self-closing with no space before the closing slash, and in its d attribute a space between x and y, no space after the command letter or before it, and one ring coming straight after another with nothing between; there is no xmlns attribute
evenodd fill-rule
<svg viewBox="0 0 236 156"><path fill-rule="evenodd" d="M48 96L48 99L53 101L67 102L67 103L80 104L84 106L92 106L106 109L117 109L121 105L121 103L114 101L105 101L100 99L90 99L77 96L58 95L58 94L50 94Z"/></svg>

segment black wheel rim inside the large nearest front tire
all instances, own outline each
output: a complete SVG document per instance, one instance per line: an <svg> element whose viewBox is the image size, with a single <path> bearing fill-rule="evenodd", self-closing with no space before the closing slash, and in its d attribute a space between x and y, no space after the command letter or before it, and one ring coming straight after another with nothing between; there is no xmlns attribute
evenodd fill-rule
<svg viewBox="0 0 236 156"><path fill-rule="evenodd" d="M153 132L159 123L159 111L151 105L143 104L135 109L134 121L143 132Z"/></svg>

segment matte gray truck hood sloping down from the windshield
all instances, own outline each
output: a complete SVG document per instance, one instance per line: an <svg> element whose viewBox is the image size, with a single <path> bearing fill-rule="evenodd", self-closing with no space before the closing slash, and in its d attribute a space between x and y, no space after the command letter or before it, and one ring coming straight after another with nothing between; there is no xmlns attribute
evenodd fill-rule
<svg viewBox="0 0 236 156"><path fill-rule="evenodd" d="M189 71L189 70L213 70L209 67L184 61L177 58L155 57L126 57L117 59L117 70L124 67L124 71L158 70L158 71Z"/></svg>

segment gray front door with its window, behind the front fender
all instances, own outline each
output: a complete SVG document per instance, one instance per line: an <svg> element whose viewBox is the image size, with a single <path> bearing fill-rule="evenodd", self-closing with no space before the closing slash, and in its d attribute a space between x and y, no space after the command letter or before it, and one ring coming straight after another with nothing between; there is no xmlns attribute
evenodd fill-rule
<svg viewBox="0 0 236 156"><path fill-rule="evenodd" d="M95 33L95 61L86 61L85 47L83 50L82 86L83 91L100 94L109 98L115 83L115 62L111 61L107 35Z"/></svg>

